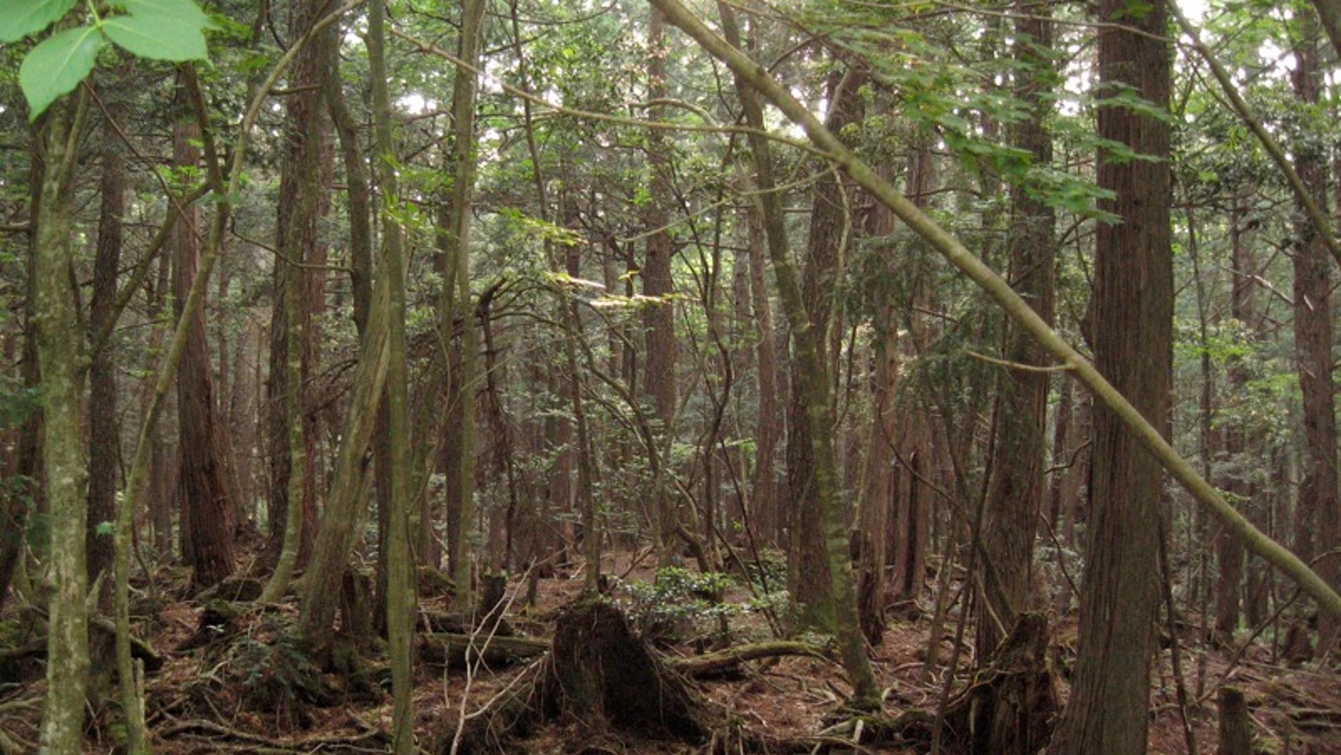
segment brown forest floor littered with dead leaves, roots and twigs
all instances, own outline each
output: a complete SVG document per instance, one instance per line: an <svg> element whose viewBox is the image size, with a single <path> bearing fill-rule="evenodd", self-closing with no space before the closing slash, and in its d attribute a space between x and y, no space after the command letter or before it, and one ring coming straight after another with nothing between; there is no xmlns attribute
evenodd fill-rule
<svg viewBox="0 0 1341 755"><path fill-rule="evenodd" d="M172 573L162 571L168 577ZM611 579L611 597L638 616L648 609L646 597L654 577L645 563L632 563L628 555L606 565ZM180 582L180 574L176 575ZM630 587L632 586L632 587ZM558 571L538 582L534 606L524 606L526 585L514 581L507 598L514 599L507 620L518 636L547 640L559 610L571 603L582 590L582 574ZM170 587L160 586L161 593ZM641 598L640 598L641 595ZM432 612L444 605L444 597L425 595L421 610ZM657 599L675 602L675 597ZM642 602L640 602L642 601ZM723 603L736 606L720 610L723 603L680 603L672 612L675 626L653 621L644 614L644 628L656 626L673 641L658 644L666 657L684 657L717 649L724 644L720 633L727 613L730 642L742 644L771 638L762 610L744 610L751 594L739 582L723 594ZM12 601L11 601L12 602ZM928 637L932 632L932 598L921 606L902 606L892 616L884 642L873 648L873 661L885 691L885 711L935 711L944 693L951 660L957 607L944 622L945 640L937 649L932 668L925 668ZM377 654L378 644L362 638L367 652L366 665L346 665L342 673L320 673L300 652L286 644L284 628L296 617L296 598L261 610L243 603L227 624L201 632L201 614L220 610L217 602L161 599L157 610L138 625L142 637L161 654L161 668L145 680L146 717L153 751L168 755L207 752L385 752L390 730L390 695L385 658ZM35 752L44 681L40 664L23 657L24 648L38 652L36 638L16 637L23 625L24 609L11 605L0 620L0 754ZM32 613L28 610L27 613ZM660 616L660 614L658 614ZM31 622L30 622L31 624ZM207 621L207 624L209 624ZM1151 700L1149 752L1188 752L1188 728L1198 754L1216 752L1216 692L1228 684L1243 689L1254 730L1254 751L1283 754L1341 754L1341 684L1334 669L1314 662L1290 665L1273 661L1274 650L1265 640L1238 644L1224 649L1206 649L1198 632L1184 624L1180 637L1183 677L1187 680L1187 705L1179 704L1177 675L1173 673L1167 646L1160 653L1153 677ZM1061 695L1066 693L1066 673L1074 660L1074 614L1062 617L1050 628L1049 657ZM209 633L217 633L212 638ZM971 679L972 641L964 636L956 658L956 688ZM97 634L97 633L95 633ZM425 649L430 641L421 636L417 644L417 685L414 711L417 732L424 751L451 752L453 734L463 716L473 717L489 701L514 689L519 675L531 662L476 664L469 672L447 668L441 653ZM97 642L95 642L97 645ZM426 658L437 658L432 662ZM102 661L106 662L106 661ZM353 669L353 671L351 671ZM1199 679L1203 680L1199 683ZM842 669L833 661L811 657L780 657L752 662L743 673L720 680L693 683L707 705L727 715L723 720L750 732L756 751L771 752L927 752L919 746L842 744L835 730L827 730L848 692ZM1198 693L1198 691L1203 693ZM109 695L106 688L98 691ZM463 707L464 705L464 707ZM98 711L93 704L91 709ZM1187 711L1184 727L1183 712ZM97 720L115 720L114 704L102 708ZM86 752L111 752L118 736L117 725L93 724ZM771 744L770 744L771 743ZM738 742L740 744L740 742ZM711 752L720 742L683 743L648 739L645 734L611 730L593 739L590 731L574 723L548 723L528 732L524 739L508 742L499 751L534 754L691 754ZM742 752L750 746L743 746ZM736 744L731 751L735 752ZM955 752L953 747L943 747Z"/></svg>

